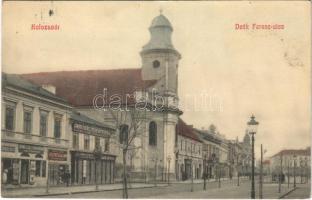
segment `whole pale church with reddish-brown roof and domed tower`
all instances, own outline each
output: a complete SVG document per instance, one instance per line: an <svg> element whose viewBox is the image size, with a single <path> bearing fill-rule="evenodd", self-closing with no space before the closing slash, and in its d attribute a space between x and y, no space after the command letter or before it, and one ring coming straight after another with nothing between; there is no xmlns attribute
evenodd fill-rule
<svg viewBox="0 0 312 200"><path fill-rule="evenodd" d="M150 40L140 52L140 68L22 75L37 85L53 85L56 95L79 113L115 127L110 147L116 156L116 180L122 175L125 139L131 140L126 155L130 178L176 178L176 130L182 114L178 107L181 55L172 44L173 27L162 13L152 20L149 32ZM139 102L148 108L138 111L134 106Z"/></svg>

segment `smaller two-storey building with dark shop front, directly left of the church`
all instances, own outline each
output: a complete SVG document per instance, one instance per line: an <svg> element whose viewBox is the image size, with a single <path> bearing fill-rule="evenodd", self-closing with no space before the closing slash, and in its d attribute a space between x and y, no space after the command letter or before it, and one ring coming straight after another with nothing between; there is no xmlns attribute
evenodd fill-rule
<svg viewBox="0 0 312 200"><path fill-rule="evenodd" d="M115 160L111 138L115 129L74 111L71 123L71 183L111 184Z"/></svg>

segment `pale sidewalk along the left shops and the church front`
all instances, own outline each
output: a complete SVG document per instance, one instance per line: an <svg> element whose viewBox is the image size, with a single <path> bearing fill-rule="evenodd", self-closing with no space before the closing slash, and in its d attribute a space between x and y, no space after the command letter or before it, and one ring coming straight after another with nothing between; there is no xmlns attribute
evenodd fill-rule
<svg viewBox="0 0 312 200"><path fill-rule="evenodd" d="M164 183L158 183L157 187L168 186ZM129 189L134 188L151 188L155 187L154 184L146 183L131 183L128 185ZM113 191L113 190L122 190L122 184L107 184L99 185L98 190L95 190L95 185L84 185L84 186L69 186L69 187L50 187L49 192L46 192L45 187L37 188L15 188L15 189L1 189L1 196L12 198L26 198L26 197L40 197L48 195L64 195L64 194L78 194L78 193L87 193L87 192L100 192L100 191Z"/></svg>

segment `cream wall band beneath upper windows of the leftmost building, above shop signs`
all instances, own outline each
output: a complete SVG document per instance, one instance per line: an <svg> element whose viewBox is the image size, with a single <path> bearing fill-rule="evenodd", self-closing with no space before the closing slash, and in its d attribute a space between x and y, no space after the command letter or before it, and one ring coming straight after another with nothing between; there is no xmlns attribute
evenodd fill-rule
<svg viewBox="0 0 312 200"><path fill-rule="evenodd" d="M19 141L29 141L32 143L41 143L41 144L56 144L62 146L68 146L69 142L65 139L45 137L40 135L33 135L29 133L14 132L8 130L2 130L2 139L14 139Z"/></svg>

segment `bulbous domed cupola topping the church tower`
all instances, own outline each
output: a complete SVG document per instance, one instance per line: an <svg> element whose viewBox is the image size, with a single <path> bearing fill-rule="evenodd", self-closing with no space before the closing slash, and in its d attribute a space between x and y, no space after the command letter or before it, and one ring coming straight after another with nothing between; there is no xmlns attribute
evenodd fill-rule
<svg viewBox="0 0 312 200"><path fill-rule="evenodd" d="M152 20L149 27L150 41L143 46L142 52L149 50L174 50L171 42L173 28L170 21L162 13Z"/></svg>

